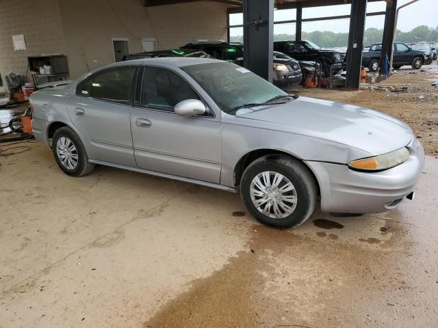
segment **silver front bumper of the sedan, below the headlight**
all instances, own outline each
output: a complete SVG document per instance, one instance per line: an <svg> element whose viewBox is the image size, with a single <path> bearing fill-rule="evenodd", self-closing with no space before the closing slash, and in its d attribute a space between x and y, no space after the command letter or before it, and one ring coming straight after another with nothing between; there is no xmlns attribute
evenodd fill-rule
<svg viewBox="0 0 438 328"><path fill-rule="evenodd" d="M381 172L357 172L347 165L306 161L321 193L321 209L330 213L380 213L411 196L422 174L424 150L413 138L404 163Z"/></svg>

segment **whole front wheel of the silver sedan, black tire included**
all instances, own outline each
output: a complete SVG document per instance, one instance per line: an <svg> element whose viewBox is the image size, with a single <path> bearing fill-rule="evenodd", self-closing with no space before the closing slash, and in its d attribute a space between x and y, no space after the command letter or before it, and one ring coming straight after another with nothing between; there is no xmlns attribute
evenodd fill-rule
<svg viewBox="0 0 438 328"><path fill-rule="evenodd" d="M257 221L276 228L292 228L309 219L315 210L318 187L302 162L271 154L246 167L240 195Z"/></svg>

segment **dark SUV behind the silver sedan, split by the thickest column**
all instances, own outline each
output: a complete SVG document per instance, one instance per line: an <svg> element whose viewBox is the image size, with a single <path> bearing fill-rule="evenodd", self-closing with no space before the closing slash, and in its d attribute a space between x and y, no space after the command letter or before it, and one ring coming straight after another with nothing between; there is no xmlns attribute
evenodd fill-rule
<svg viewBox="0 0 438 328"><path fill-rule="evenodd" d="M204 51L218 59L229 61L233 64L243 66L244 50L242 43L228 42L202 42L189 43L182 46L181 49L197 49ZM302 72L298 61L292 59L288 61L274 59L273 82L277 87L289 89L296 87L302 82Z"/></svg>

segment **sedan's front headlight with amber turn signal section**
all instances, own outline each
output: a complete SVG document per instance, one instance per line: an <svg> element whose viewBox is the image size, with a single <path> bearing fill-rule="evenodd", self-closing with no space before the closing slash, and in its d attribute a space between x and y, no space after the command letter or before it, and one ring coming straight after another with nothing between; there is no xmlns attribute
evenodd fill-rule
<svg viewBox="0 0 438 328"><path fill-rule="evenodd" d="M348 164L350 169L359 169L361 171L381 171L400 165L409 159L409 150L406 147L388 152L387 154L368 157L366 159L357 159Z"/></svg>

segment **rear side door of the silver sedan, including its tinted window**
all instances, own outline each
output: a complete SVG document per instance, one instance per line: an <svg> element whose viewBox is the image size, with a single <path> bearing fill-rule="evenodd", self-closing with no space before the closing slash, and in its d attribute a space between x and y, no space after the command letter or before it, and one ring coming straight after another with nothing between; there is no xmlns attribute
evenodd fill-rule
<svg viewBox="0 0 438 328"><path fill-rule="evenodd" d="M70 120L87 143L90 159L136 166L129 115L138 66L116 66L79 82L68 101Z"/></svg>

